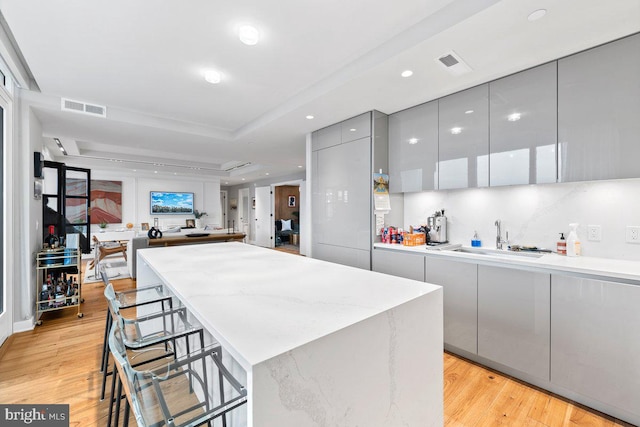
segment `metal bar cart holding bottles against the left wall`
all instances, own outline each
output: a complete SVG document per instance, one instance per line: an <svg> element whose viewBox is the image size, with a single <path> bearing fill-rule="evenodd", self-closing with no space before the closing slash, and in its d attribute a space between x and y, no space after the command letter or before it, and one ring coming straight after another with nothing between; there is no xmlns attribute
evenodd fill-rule
<svg viewBox="0 0 640 427"><path fill-rule="evenodd" d="M43 249L36 254L37 325L42 324L42 313L49 311L77 307L78 317L83 316L80 311L84 302L80 254L79 249L73 248ZM70 279L70 283L62 284L58 280L62 278Z"/></svg>

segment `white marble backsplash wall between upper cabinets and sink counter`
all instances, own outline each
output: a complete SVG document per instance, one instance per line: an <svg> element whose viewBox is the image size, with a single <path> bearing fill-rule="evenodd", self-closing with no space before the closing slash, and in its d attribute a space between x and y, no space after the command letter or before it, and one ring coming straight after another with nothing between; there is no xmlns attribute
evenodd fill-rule
<svg viewBox="0 0 640 427"><path fill-rule="evenodd" d="M452 243L470 246L477 230L495 248L500 219L511 243L555 250L559 233L577 222L584 256L640 260L640 244L625 243L626 226L640 226L640 179L407 193L402 225L425 223L437 209ZM587 225L602 227L600 242L587 240Z"/></svg>

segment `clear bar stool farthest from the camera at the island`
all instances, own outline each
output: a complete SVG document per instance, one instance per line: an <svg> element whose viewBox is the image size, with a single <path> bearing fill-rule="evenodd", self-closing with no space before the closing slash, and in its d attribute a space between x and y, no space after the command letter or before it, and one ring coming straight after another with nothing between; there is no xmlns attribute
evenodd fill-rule
<svg viewBox="0 0 640 427"><path fill-rule="evenodd" d="M109 277L103 266L100 266L100 276L105 286L109 286ZM128 291L115 292L115 297L118 301L121 310L127 310L136 307L149 306L155 304L159 305L159 308L155 308L156 311L163 311L173 308L173 300L171 296L165 291L164 286L161 284L132 289ZM111 323L113 316L109 310L107 310L106 321L104 326L104 338L102 340L102 360L100 361L100 372L102 372L102 387L100 391L100 400L104 399L107 377L112 374L108 372L109 366L109 331L111 329Z"/></svg>

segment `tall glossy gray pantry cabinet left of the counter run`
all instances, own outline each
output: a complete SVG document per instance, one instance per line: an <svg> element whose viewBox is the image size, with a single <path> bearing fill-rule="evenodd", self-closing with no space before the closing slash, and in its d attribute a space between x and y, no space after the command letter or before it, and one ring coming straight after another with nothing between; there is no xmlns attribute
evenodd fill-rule
<svg viewBox="0 0 640 427"><path fill-rule="evenodd" d="M373 172L387 171L388 117L371 111L311 135L311 256L371 269Z"/></svg>

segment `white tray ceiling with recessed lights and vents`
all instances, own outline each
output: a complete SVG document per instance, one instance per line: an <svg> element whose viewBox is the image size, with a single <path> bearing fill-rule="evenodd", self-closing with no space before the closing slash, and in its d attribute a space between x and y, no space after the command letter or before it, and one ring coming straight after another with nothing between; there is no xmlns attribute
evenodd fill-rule
<svg viewBox="0 0 640 427"><path fill-rule="evenodd" d="M308 132L364 111L640 31L638 0L0 0L0 12L37 83L25 101L52 152L57 137L70 153L58 160L223 185L300 172ZM256 46L238 40L241 23L259 29ZM473 71L435 62L450 50ZM210 68L220 84L204 80ZM107 118L63 112L61 97L105 105Z"/></svg>

